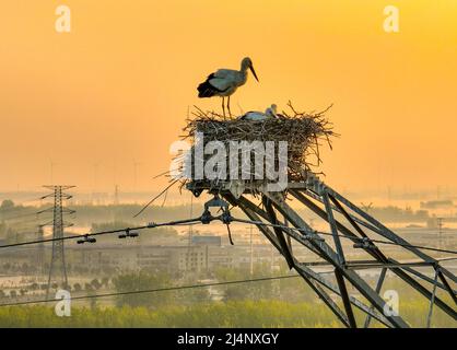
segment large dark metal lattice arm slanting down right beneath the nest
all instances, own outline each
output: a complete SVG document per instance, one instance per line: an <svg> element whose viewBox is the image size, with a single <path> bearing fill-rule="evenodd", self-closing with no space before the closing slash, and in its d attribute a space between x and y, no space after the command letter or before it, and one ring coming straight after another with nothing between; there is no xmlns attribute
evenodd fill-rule
<svg viewBox="0 0 457 350"><path fill-rule="evenodd" d="M407 319L395 313L386 313L386 301L380 291L387 271L417 290L430 301L426 326L430 326L433 307L436 306L449 317L457 320L456 276L444 268L440 259L424 253L423 248L412 245L379 221L360 209L339 192L328 187L317 176L308 173L305 182L289 184L285 192L268 192L265 188L246 186L244 194L234 196L230 183L221 183L219 188L203 182L187 184L196 196L203 190L218 195L234 207L238 207L248 218L232 221L251 223L284 257L289 267L295 269L314 290L314 292L332 311L336 317L347 327L368 327L372 318L387 327L409 327ZM255 196L251 196L255 194ZM286 195L285 195L286 194ZM260 203L254 197L260 197ZM258 200L257 200L258 201ZM318 232L304 220L292 201L298 202L327 222L329 232ZM326 240L327 238L327 240ZM331 238L331 240L328 240ZM350 241L352 244L343 244ZM300 244L318 259L313 262L300 261L294 254L293 244ZM384 249L390 244L412 255L413 261L400 262ZM350 253L363 252L370 259L349 260ZM359 254L360 255L360 254ZM336 283L323 277L316 268L328 266L333 269ZM424 275L418 268L429 267L434 278ZM370 285L360 273L363 269L380 269L375 287ZM362 298L350 295L351 285ZM450 303L436 295L437 289L450 295ZM338 296L335 301L332 295ZM340 301L340 303L338 302ZM363 325L358 325L354 308L366 314Z"/></svg>

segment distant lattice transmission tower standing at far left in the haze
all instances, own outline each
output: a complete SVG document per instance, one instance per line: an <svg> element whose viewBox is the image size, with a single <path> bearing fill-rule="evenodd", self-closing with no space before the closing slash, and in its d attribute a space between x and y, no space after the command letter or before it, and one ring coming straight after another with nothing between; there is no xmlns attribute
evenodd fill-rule
<svg viewBox="0 0 457 350"><path fill-rule="evenodd" d="M63 200L72 198L72 196L65 194L63 191L69 188L73 188L74 186L44 186L44 187L54 190L54 192L42 197L42 199L54 198L54 207L40 211L40 213L52 212L54 214L54 218L50 224L52 225L52 238L55 241L52 241L52 255L51 255L50 267L49 267L48 287L46 291L46 298L47 298L49 294L49 290L51 288L52 281L58 283L58 285L62 285L63 288L68 285L63 240L59 240L59 238L63 237L63 229L72 225L71 223L66 223L63 221L63 214L74 213L74 210L63 207Z"/></svg>

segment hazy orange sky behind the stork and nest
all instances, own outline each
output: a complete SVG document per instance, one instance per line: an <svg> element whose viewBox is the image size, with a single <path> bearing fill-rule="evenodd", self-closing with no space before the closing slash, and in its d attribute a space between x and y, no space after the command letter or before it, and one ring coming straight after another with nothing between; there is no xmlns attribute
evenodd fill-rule
<svg viewBox="0 0 457 350"><path fill-rule="evenodd" d="M55 9L72 32L55 31ZM400 10L400 33L383 9ZM212 70L254 60L233 110L335 104L325 154L344 188L454 186L457 1L4 0L0 2L0 189L50 182L154 189ZM98 165L95 165L98 164ZM96 174L96 176L95 176Z"/></svg>

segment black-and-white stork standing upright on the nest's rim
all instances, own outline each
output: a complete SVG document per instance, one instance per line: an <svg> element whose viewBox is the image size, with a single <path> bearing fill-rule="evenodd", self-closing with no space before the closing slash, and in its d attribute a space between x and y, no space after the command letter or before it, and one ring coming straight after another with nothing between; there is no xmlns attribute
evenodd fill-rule
<svg viewBox="0 0 457 350"><path fill-rule="evenodd" d="M249 57L245 57L242 60L242 69L241 70L233 70L233 69L219 69L214 73L208 75L207 80L198 85L198 96L203 97L212 97L212 96L220 96L222 97L222 112L225 117L225 105L224 98L228 97L227 101L227 109L230 116L232 113L230 110L230 96L238 89L239 86L244 85L247 81L247 70L254 74L257 81L256 71L254 70L253 61Z"/></svg>

